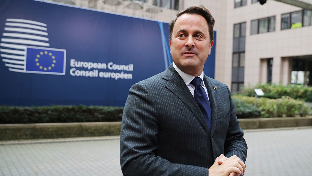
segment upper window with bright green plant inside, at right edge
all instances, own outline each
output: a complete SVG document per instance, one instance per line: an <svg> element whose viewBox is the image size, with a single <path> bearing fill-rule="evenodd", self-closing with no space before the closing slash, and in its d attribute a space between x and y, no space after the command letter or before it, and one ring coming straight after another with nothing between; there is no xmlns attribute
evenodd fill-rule
<svg viewBox="0 0 312 176"><path fill-rule="evenodd" d="M296 12L282 14L281 30L311 26L311 11L300 10Z"/></svg>

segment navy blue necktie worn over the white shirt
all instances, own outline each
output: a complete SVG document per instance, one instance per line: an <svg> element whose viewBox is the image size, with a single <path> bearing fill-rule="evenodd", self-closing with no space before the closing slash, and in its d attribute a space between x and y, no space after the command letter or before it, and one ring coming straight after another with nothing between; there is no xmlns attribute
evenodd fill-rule
<svg viewBox="0 0 312 176"><path fill-rule="evenodd" d="M208 129L210 131L211 129L211 108L209 104L209 100L207 97L207 94L205 92L205 89L200 85L202 82L202 78L195 77L191 84L195 86L194 90L194 98L202 111L202 115L204 116L204 119L208 125Z"/></svg>

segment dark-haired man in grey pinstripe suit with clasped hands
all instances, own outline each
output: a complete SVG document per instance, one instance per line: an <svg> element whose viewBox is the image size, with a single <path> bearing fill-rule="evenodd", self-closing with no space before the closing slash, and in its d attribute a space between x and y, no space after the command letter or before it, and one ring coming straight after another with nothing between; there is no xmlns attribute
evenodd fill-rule
<svg viewBox="0 0 312 176"><path fill-rule="evenodd" d="M214 23L203 6L178 12L169 28L173 63L130 88L120 134L124 175L245 172L247 145L231 92L203 74ZM199 79L201 86L196 88L193 79ZM197 103L197 90L204 90L210 103Z"/></svg>

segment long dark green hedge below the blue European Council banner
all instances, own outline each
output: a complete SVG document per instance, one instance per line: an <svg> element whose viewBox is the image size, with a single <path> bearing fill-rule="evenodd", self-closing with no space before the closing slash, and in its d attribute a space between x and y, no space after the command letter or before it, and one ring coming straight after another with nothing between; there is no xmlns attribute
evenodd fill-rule
<svg viewBox="0 0 312 176"><path fill-rule="evenodd" d="M61 123L121 121L123 107L106 106L0 106L0 123Z"/></svg>

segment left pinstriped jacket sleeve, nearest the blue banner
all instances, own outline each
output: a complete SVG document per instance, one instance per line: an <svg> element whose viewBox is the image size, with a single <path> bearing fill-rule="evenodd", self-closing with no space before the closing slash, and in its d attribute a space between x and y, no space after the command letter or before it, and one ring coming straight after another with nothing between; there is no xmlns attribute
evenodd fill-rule
<svg viewBox="0 0 312 176"><path fill-rule="evenodd" d="M208 168L171 163L155 155L158 121L153 102L153 97L142 84L137 83L130 88L120 134L120 164L123 174L208 175Z"/></svg>

